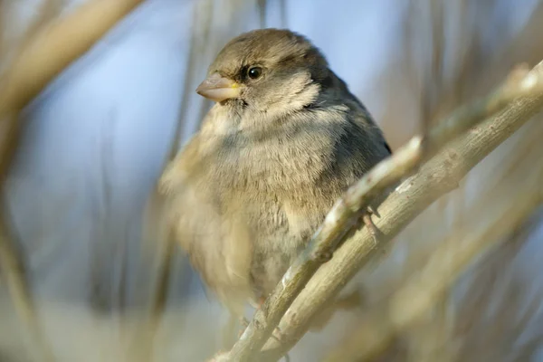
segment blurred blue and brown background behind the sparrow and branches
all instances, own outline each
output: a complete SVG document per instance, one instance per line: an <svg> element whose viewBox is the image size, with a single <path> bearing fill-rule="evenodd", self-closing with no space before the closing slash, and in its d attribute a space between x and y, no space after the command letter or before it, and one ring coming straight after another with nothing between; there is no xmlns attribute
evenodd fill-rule
<svg viewBox="0 0 543 362"><path fill-rule="evenodd" d="M0 71L44 3L0 2ZM57 0L49 20L82 3ZM516 64L543 60L540 0L143 1L19 115L3 206L58 361L131 360L134 320L146 312L157 279L142 252L148 195L171 150L210 107L194 91L207 66L230 38L259 27L307 35L393 149L487 94ZM475 205L492 198L506 207L539 171L542 138L538 116L396 237L357 276L367 308L415 278L446 235L490 223L472 212ZM509 191L489 195L498 184ZM537 210L509 230L375 360L543 361L542 220ZM203 361L220 348L226 312L181 252L174 263L155 360ZM0 285L0 361L34 361ZM338 313L300 341L291 361L318 361L358 324L356 312Z"/></svg>

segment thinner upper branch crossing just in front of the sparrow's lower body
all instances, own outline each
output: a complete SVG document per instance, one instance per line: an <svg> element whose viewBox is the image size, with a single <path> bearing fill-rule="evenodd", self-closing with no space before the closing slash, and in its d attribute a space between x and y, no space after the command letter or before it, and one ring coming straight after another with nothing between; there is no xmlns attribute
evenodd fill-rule
<svg viewBox="0 0 543 362"><path fill-rule="evenodd" d="M252 322L245 329L242 338L234 345L230 352L230 358L235 361L249 361L259 353L263 344L271 336L271 332L279 324L281 317L287 312L292 301L298 296L304 286L310 281L311 277L319 269L322 262L329 260L335 247L346 236L348 230L352 229L359 222L362 212L365 211L369 203L377 196L386 191L390 186L394 186L402 177L412 174L416 167L427 157L432 157L444 144L462 134L473 125L490 117L494 113L510 105L512 100L521 95L539 94L543 85L543 62L533 71L519 68L513 71L507 81L495 92L483 100L472 103L454 112L449 119L439 123L437 127L430 130L425 138L415 137L404 148L399 149L395 155L381 162L374 167L366 176L348 189L346 195L338 200L336 205L327 215L324 223L318 232L313 236L309 246L300 257L293 263L291 268L283 276L281 283L271 293L271 296L264 302L262 308L256 310ZM490 151L490 150L489 150ZM446 189L444 190L446 191ZM414 215L413 215L414 217ZM395 233L401 230L401 226L395 229ZM390 240L393 235L386 235ZM344 247L345 248L345 247ZM369 242L357 245L366 254L376 248L373 239ZM354 252L359 254L359 252ZM348 268L347 268L348 266ZM346 262L343 267L355 271L357 264L355 262ZM345 272L338 272L343 279L328 279L325 284L345 283ZM307 287L306 287L307 291ZM332 296L331 294L329 295ZM327 298L326 300L329 300ZM309 322L310 316L320 307L321 302L313 303L308 308L304 318ZM313 300L314 301L314 300ZM297 312L295 312L297 313ZM289 314L287 312L287 314ZM300 315L298 315L300 318ZM294 340L303 335L307 325L302 323L291 324L289 327L296 326L297 333ZM281 331L284 329L281 328ZM288 339L287 339L288 340ZM291 341L283 346L291 347ZM281 350L280 357L288 349Z"/></svg>

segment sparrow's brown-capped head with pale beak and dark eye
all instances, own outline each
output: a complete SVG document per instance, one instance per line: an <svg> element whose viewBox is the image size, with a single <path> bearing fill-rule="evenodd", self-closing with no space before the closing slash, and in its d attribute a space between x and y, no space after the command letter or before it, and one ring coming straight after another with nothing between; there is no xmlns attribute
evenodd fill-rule
<svg viewBox="0 0 543 362"><path fill-rule="evenodd" d="M273 116L312 103L328 79L328 62L305 37L261 29L227 43L196 92L238 113Z"/></svg>

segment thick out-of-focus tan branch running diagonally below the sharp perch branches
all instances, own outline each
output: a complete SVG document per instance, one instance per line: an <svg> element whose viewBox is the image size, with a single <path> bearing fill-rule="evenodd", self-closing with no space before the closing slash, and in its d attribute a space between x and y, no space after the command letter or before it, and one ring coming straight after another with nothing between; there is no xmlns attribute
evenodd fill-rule
<svg viewBox="0 0 543 362"><path fill-rule="evenodd" d="M482 252L493 244L503 242L506 236L522 224L541 204L543 188L543 162L536 148L521 169L500 185L493 187L472 208L471 219L477 220L472 227L448 237L433 252L429 261L416 272L399 291L365 313L363 326L346 343L332 352L327 361L370 360L383 351L395 336L415 320L431 310L454 281ZM519 168L519 167L518 167ZM537 170L533 172L533 170ZM512 188L511 185L515 187ZM510 195L511 188L514 195ZM491 216L490 223L481 223L478 216ZM475 229L475 230L473 230ZM502 331L503 329L497 329Z"/></svg>

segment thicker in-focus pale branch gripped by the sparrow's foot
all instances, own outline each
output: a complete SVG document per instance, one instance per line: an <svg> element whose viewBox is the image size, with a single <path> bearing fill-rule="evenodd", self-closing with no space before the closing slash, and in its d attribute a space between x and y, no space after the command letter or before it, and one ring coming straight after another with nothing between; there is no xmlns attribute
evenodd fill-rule
<svg viewBox="0 0 543 362"><path fill-rule="evenodd" d="M530 72L541 77L543 64ZM529 79L532 79L529 77ZM375 224L380 230L380 244L385 246L416 215L438 197L454 189L482 158L509 138L543 107L543 96L522 97L512 101L500 114L487 119L430 159L419 172L406 179L379 207L381 218ZM376 250L367 230L359 230L323 265L306 285L281 319L281 342L269 340L259 360L277 360L292 348L310 326L310 319L322 305L371 259Z"/></svg>

